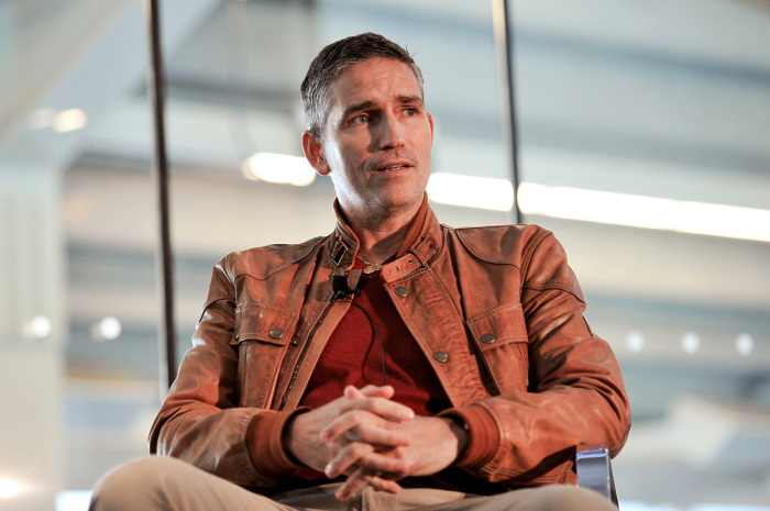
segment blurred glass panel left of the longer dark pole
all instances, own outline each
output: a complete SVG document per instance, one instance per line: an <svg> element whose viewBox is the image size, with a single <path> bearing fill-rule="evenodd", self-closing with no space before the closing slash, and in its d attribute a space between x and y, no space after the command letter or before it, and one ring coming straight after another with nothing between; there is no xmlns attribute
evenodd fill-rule
<svg viewBox="0 0 770 511"><path fill-rule="evenodd" d="M2 509L54 509L146 452L153 201L146 166L133 188L118 171L133 149L100 145L144 81L135 3L0 3Z"/></svg>

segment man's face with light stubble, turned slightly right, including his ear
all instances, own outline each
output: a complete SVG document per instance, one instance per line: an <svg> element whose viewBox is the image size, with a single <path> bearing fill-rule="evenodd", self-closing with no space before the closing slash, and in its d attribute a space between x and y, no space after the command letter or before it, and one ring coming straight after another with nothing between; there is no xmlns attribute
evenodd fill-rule
<svg viewBox="0 0 770 511"><path fill-rule="evenodd" d="M374 58L331 84L331 108L319 141L306 132L310 164L329 175L342 210L382 216L416 211L430 175L433 120L407 64Z"/></svg>

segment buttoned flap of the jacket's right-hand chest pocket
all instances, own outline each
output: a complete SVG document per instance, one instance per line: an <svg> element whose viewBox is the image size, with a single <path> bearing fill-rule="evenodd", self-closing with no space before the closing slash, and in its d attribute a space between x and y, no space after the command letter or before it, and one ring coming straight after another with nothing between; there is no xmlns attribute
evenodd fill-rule
<svg viewBox="0 0 770 511"><path fill-rule="evenodd" d="M476 345L482 352L510 343L526 343L527 325L520 303L492 309L466 322Z"/></svg>

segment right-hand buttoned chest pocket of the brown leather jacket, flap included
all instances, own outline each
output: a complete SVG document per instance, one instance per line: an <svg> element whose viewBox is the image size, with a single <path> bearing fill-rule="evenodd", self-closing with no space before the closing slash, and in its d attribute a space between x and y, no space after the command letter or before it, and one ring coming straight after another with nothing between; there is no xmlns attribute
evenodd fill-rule
<svg viewBox="0 0 770 511"><path fill-rule="evenodd" d="M501 306L466 321L480 356L502 393L526 392L527 324L520 303Z"/></svg>

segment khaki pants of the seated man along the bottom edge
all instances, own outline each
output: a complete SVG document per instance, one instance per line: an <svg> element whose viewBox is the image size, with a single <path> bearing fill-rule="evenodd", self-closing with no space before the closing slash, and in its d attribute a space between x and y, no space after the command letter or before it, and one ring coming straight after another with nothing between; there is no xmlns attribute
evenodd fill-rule
<svg viewBox="0 0 770 511"><path fill-rule="evenodd" d="M292 491L268 499L185 462L146 457L121 465L97 482L89 511L617 511L598 493L572 486L546 486L491 497L406 488L398 495L366 487L345 502L338 485Z"/></svg>

